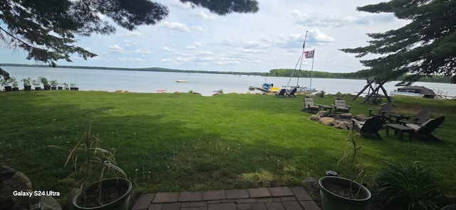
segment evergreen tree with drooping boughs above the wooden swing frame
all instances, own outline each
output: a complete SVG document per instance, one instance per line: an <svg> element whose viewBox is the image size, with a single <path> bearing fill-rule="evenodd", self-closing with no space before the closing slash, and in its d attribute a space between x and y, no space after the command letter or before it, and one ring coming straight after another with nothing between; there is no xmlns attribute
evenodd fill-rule
<svg viewBox="0 0 456 210"><path fill-rule="evenodd" d="M406 26L384 33L368 33L369 45L341 49L343 52L380 55L361 60L370 67L359 74L380 80L394 80L403 74L403 82L421 77L445 75L456 83L456 1L454 0L392 0L358 7L370 13L394 13L409 20Z"/></svg>

